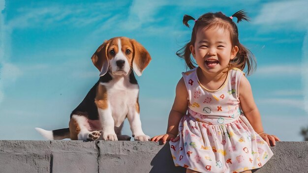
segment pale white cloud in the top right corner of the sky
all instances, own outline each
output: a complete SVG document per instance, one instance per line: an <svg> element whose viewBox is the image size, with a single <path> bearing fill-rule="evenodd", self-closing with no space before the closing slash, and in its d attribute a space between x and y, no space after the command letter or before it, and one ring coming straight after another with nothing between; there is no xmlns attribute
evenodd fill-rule
<svg viewBox="0 0 308 173"><path fill-rule="evenodd" d="M263 5L253 24L266 27L266 30L306 30L308 27L307 7L307 0L269 2Z"/></svg>

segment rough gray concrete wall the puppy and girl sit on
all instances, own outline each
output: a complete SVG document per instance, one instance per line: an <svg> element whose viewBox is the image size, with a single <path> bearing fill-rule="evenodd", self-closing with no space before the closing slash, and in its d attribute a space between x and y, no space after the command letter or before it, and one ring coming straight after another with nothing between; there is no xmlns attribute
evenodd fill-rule
<svg viewBox="0 0 308 173"><path fill-rule="evenodd" d="M308 142L277 142L255 173L308 173ZM169 144L135 141L0 141L0 173L185 173Z"/></svg>

